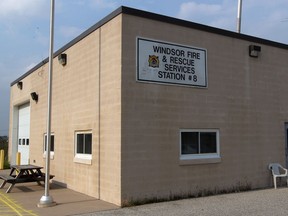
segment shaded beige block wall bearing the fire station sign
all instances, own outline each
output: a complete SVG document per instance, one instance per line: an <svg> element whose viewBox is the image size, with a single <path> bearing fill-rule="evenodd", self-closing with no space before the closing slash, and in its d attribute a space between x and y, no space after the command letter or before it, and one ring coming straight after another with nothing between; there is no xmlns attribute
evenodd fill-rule
<svg viewBox="0 0 288 216"><path fill-rule="evenodd" d="M207 49L208 88L136 82L136 37ZM287 50L123 16L122 199L271 184L285 164ZM221 162L180 165L179 129L219 129Z"/></svg>

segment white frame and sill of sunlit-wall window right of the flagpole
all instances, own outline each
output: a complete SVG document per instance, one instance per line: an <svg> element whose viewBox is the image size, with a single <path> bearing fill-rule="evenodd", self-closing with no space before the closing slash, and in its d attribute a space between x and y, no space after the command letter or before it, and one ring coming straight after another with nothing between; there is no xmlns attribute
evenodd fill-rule
<svg viewBox="0 0 288 216"><path fill-rule="evenodd" d="M77 153L77 135L79 134L91 134L91 154L85 154L85 153ZM80 162L80 163L87 163L91 164L92 160L92 146L93 146L93 133L92 130L87 131L75 131L74 133L74 162Z"/></svg>

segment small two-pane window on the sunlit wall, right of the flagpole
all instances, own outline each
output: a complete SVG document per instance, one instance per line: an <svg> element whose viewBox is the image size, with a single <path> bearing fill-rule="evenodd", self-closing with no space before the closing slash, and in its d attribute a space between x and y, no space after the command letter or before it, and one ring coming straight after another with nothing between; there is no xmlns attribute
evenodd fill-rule
<svg viewBox="0 0 288 216"><path fill-rule="evenodd" d="M75 157L82 159L92 159L92 133L76 132L75 133Z"/></svg>

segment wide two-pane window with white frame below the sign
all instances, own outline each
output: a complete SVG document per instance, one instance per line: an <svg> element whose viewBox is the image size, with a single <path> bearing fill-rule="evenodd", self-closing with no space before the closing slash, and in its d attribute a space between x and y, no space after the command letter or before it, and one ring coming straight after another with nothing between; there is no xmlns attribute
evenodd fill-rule
<svg viewBox="0 0 288 216"><path fill-rule="evenodd" d="M220 158L218 130L180 130L180 159Z"/></svg>

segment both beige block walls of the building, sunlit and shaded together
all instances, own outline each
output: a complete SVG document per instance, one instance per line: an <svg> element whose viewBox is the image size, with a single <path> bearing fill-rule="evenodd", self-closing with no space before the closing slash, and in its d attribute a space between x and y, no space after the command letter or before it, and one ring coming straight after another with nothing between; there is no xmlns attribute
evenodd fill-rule
<svg viewBox="0 0 288 216"><path fill-rule="evenodd" d="M207 49L208 88L136 82L136 37ZM267 165L285 164L287 50L163 22L119 15L54 62L51 173L76 191L121 205L204 190L271 184ZM45 165L48 66L11 87L14 114L30 101L30 161ZM39 94L36 104L30 93ZM15 111L15 112L14 112ZM219 129L221 162L181 165L179 129ZM91 130L92 163L74 161L75 131ZM14 138L13 138L14 137Z"/></svg>

